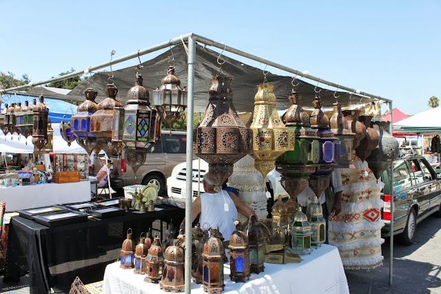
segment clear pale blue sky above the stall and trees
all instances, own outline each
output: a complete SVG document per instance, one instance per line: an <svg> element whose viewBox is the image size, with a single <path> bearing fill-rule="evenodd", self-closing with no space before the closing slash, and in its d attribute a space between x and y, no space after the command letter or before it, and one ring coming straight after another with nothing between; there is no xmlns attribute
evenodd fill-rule
<svg viewBox="0 0 441 294"><path fill-rule="evenodd" d="M195 32L389 98L406 114L429 109L430 96L441 99L440 0L0 0L0 11L0 72L34 82L103 63L112 50L123 56Z"/></svg>

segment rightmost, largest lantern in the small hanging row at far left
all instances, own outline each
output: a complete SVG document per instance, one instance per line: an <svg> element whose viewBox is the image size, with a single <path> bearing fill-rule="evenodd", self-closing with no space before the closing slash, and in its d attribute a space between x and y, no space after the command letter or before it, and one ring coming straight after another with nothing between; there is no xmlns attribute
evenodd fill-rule
<svg viewBox="0 0 441 294"><path fill-rule="evenodd" d="M49 108L44 104L44 97L40 96L40 103L34 107L32 129L32 144L38 150L41 150L44 145L48 144L48 114Z"/></svg>

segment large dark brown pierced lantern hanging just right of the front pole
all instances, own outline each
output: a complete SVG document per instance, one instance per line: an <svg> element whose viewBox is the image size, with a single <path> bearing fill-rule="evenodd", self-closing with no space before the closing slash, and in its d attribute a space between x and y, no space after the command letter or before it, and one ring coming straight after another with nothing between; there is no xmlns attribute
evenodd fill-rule
<svg viewBox="0 0 441 294"><path fill-rule="evenodd" d="M211 81L209 104L193 132L193 150L208 162L209 171L221 184L232 175L234 162L252 153L252 130L234 109L232 78L216 76Z"/></svg>

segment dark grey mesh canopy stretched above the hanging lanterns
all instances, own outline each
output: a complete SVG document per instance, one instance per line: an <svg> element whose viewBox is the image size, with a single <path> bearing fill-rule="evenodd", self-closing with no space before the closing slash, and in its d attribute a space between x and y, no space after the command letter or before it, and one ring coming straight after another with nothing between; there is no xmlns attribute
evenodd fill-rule
<svg viewBox="0 0 441 294"><path fill-rule="evenodd" d="M156 87L161 85L161 79L167 75L167 67L174 65L176 68L175 75L181 80L181 87L187 85L187 54L182 45L172 48L174 61L171 61L172 52L167 50L163 54L156 56L150 61L143 63L143 85L147 91L152 93ZM225 60L222 65L222 71L219 73L219 65L217 63L219 53L204 48L201 45L196 45L196 64L194 72L194 111L204 112L208 103L208 89L210 87L210 78L216 74L223 74L233 78L232 89L234 92L233 103L238 112L253 112L254 110L254 96L257 92L257 85L263 82L263 70L257 67L246 65L240 61L229 58L225 55L219 57L220 62ZM134 85L136 59L133 59L134 65L121 70L115 70L114 84L119 88L119 98L121 103L127 100L127 92ZM263 64L262 67L265 67ZM269 70L269 68L267 68ZM107 80L111 76L111 72L98 72L92 76L88 81L84 81L74 88L67 97L70 100L84 101L84 91L93 86L98 91L99 96L96 102L102 101L105 98L104 88L107 85ZM267 74L267 80L271 85L274 85L274 94L277 97L277 109L287 109L291 105L288 96L291 94L291 80L293 76L278 76L276 74ZM93 81L93 83L90 83ZM305 81L296 79L294 83L299 83L296 87L297 92L302 94L300 101L303 107L311 107L312 101L316 96L314 88L316 85L311 85ZM326 90L320 88L320 84L316 88L320 91L322 104L324 107L332 107L336 99L334 98L335 90ZM338 102L345 106L350 103L350 94L347 92L337 92ZM353 96L354 98L356 96ZM151 96L150 96L151 99ZM360 97L355 98L354 101L360 101ZM374 99L363 98L362 102L367 103L374 101Z"/></svg>

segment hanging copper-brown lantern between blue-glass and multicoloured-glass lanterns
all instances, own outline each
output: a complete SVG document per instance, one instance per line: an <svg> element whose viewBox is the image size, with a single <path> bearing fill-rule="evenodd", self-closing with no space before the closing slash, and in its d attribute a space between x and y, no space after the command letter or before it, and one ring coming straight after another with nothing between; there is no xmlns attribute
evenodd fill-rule
<svg viewBox="0 0 441 294"><path fill-rule="evenodd" d="M98 103L96 112L90 116L90 133L95 136L97 144L104 150L108 157L118 152L119 142L112 141L113 109L123 107L116 100L118 89L114 84L108 84L104 88L106 98Z"/></svg>

